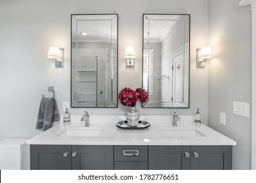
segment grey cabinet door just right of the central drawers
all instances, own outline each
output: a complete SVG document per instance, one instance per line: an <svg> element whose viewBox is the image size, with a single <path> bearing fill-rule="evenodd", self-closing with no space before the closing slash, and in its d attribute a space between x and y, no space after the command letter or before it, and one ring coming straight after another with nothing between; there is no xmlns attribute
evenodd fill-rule
<svg viewBox="0 0 256 183"><path fill-rule="evenodd" d="M190 146L148 146L148 169L190 169L189 153Z"/></svg>

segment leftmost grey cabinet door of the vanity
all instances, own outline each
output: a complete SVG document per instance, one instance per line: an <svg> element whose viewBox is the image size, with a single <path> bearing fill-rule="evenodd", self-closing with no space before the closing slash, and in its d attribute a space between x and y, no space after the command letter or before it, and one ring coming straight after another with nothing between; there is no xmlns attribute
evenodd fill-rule
<svg viewBox="0 0 256 183"><path fill-rule="evenodd" d="M30 169L70 170L71 146L30 145Z"/></svg>

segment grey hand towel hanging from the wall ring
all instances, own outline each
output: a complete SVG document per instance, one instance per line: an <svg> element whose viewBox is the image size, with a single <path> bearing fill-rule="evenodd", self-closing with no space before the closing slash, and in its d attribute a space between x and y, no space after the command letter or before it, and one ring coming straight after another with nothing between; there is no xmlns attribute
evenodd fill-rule
<svg viewBox="0 0 256 183"><path fill-rule="evenodd" d="M51 127L52 122L58 120L60 120L60 114L58 112L56 100L43 97L39 106L35 129L43 128L43 131L45 131Z"/></svg>

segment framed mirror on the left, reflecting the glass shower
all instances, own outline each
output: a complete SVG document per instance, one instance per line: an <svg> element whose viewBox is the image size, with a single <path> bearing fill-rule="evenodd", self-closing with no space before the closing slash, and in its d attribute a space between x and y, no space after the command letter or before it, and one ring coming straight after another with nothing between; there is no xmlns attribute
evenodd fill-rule
<svg viewBox="0 0 256 183"><path fill-rule="evenodd" d="M117 14L71 15L71 107L117 107Z"/></svg>

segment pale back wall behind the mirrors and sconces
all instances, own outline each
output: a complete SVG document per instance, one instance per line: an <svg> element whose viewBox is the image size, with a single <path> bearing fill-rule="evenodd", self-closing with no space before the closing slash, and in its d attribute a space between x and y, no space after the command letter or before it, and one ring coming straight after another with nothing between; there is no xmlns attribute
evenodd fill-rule
<svg viewBox="0 0 256 183"><path fill-rule="evenodd" d="M196 69L196 48L207 44L207 1L205 0L1 0L0 1L0 140L33 137L41 94L70 101L70 15L119 14L119 90L142 86L142 14L191 14L190 108L179 114L194 114L202 108L207 119L207 68ZM134 69L125 67L125 46L135 46ZM64 48L64 68L55 68L47 58L49 46ZM173 109L141 108L142 114L173 114ZM85 108L72 108L83 114ZM87 108L89 114L125 114L127 107Z"/></svg>

